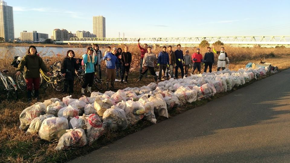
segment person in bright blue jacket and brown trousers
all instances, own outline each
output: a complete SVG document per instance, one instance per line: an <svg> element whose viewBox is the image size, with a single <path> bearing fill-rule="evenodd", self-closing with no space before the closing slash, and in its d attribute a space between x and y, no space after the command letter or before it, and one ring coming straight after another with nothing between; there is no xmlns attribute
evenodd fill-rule
<svg viewBox="0 0 290 163"><path fill-rule="evenodd" d="M115 84L115 78L116 78L116 64L119 64L119 60L118 58L115 56L115 54L117 54L117 48L113 48L111 53L107 53L103 60L107 61L107 69L106 69L106 73L107 73L107 91L109 90L109 82L111 81L111 89L115 89L114 88L114 84Z"/></svg>

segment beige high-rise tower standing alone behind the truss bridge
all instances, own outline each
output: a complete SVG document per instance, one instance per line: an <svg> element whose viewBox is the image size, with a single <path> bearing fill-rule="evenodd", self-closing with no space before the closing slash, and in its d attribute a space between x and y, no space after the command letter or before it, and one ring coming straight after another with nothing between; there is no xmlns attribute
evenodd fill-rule
<svg viewBox="0 0 290 163"><path fill-rule="evenodd" d="M106 37L106 18L103 16L93 16L93 34L98 38Z"/></svg>

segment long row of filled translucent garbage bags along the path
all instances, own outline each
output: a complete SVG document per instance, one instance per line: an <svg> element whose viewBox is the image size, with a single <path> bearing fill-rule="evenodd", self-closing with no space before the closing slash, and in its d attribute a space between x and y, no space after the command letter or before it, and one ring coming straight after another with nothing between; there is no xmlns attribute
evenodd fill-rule
<svg viewBox="0 0 290 163"><path fill-rule="evenodd" d="M141 88L117 92L92 92L90 97L71 96L38 102L20 114L19 129L38 133L41 139L55 142L57 151L91 145L105 130L124 130L140 120L156 123L156 116L168 118L168 110L230 91L233 87L266 75L264 68L223 70L150 83Z"/></svg>

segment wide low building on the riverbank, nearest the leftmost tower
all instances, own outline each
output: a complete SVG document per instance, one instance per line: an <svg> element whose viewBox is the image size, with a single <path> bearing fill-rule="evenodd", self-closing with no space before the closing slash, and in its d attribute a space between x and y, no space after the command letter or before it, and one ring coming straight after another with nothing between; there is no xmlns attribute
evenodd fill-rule
<svg viewBox="0 0 290 163"><path fill-rule="evenodd" d="M23 32L20 32L21 41L44 41L46 39L48 39L48 34L37 33L36 30L32 32L24 30Z"/></svg>

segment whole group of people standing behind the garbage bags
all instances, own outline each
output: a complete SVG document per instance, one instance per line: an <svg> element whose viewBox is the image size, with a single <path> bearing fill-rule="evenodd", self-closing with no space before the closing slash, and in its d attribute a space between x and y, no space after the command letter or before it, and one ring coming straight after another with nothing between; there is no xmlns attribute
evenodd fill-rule
<svg viewBox="0 0 290 163"><path fill-rule="evenodd" d="M181 71L181 78L184 75L188 75L188 69L190 65L193 65L192 73L195 69L198 69L198 73L201 71L201 62L204 63L205 69L207 71L209 67L209 72L212 71L212 65L214 64L214 53L218 56L218 68L219 71L225 69L226 61L229 63L227 53L224 52L224 47L221 47L221 51L216 51L213 46L214 53L211 52L211 48L208 47L208 52L202 57L200 49L196 49L196 53L189 55L189 51L186 50L185 54L181 50L181 45L177 45L177 50L173 51L172 46L163 46L162 51L157 55L152 53L152 48L147 44L143 47L140 46L138 40L138 47L140 49L140 76L139 80L147 77L147 72L154 76L155 82L164 79L166 74L166 79L173 77L173 69L175 68L174 78L178 78L178 69ZM108 46L108 50L102 56L101 50L99 50L98 44L93 44L92 47L88 47L86 53L82 55L82 69L85 71L85 81L81 88L81 93L85 94L85 88L87 92L91 93L93 80L95 78L96 72L98 72L98 77L101 79L101 61L106 62L106 90L109 90L109 84L111 84L111 89L114 89L114 82L116 75L121 76L121 84L128 83L128 75L131 67L132 54L128 51L128 46L124 46L124 51L121 48L112 48ZM79 69L79 59L75 58L75 53L73 50L68 50L66 57L61 62L60 72L64 77L63 93L73 93L75 70ZM159 66L159 75L157 77L154 71L154 63L157 62ZM45 66L42 58L37 55L37 50L35 46L30 46L27 51L27 55L23 57L17 68L16 75L20 75L21 71L24 71L24 78L27 85L27 98L31 101L32 90L34 88L34 96L39 99L39 69L46 72L47 75L51 75ZM184 74L185 71L185 74ZM126 75L125 75L126 73ZM124 79L125 77L125 79Z"/></svg>

